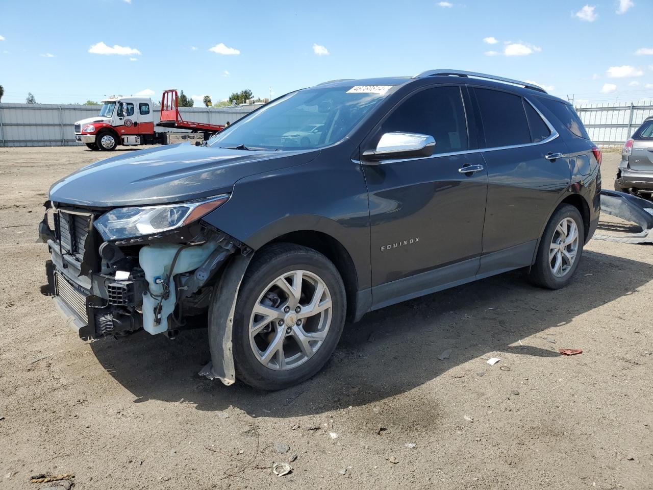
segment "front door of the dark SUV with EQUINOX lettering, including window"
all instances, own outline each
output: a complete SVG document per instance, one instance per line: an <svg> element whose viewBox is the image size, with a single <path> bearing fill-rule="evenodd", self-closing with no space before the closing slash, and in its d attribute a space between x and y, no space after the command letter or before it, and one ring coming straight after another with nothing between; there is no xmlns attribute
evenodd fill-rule
<svg viewBox="0 0 653 490"><path fill-rule="evenodd" d="M402 131L436 140L430 157L362 165L372 225L375 307L475 274L481 255L487 173L470 138L466 88L436 86L404 99L363 142ZM459 169L474 166L475 172ZM450 266L450 267L445 267Z"/></svg>

